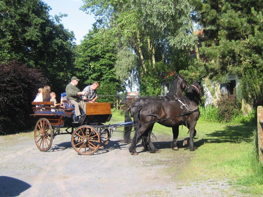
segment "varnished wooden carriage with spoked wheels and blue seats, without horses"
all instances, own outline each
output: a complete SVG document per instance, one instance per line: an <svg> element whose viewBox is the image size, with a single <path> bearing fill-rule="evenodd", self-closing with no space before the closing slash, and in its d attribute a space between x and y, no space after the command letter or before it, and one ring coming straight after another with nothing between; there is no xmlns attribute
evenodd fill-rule
<svg viewBox="0 0 263 197"><path fill-rule="evenodd" d="M65 93L61 96L65 96ZM55 136L72 134L71 144L77 153L94 154L109 143L111 128L122 125L103 125L112 117L110 103L86 103L86 113L81 110L79 119L76 118L75 107L69 100L63 100L65 109L51 107L53 102L32 102L32 105L34 113L31 116L39 117L34 138L38 149L43 152L50 149Z"/></svg>

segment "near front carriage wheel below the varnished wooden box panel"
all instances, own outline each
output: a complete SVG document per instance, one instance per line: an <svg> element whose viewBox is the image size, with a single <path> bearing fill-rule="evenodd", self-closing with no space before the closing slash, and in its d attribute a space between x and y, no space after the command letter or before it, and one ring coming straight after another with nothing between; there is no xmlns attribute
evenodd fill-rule
<svg viewBox="0 0 263 197"><path fill-rule="evenodd" d="M94 154L99 149L100 142L99 132L89 125L76 128L71 137L72 147L82 155Z"/></svg>

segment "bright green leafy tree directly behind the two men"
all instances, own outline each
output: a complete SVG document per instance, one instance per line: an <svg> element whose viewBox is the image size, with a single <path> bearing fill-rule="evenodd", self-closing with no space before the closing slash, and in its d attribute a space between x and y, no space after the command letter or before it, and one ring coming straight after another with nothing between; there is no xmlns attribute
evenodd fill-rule
<svg viewBox="0 0 263 197"><path fill-rule="evenodd" d="M116 61L115 46L109 40L101 37L103 29L90 30L82 43L77 47L75 74L83 81L80 88L98 81L98 94L117 95L124 91L125 86L117 79L114 70ZM99 98L99 101L113 101L109 98Z"/></svg>

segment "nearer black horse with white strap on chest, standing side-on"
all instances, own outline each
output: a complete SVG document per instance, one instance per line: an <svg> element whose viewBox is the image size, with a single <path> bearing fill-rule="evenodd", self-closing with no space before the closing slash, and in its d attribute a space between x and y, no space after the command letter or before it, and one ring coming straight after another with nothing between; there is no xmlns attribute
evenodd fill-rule
<svg viewBox="0 0 263 197"><path fill-rule="evenodd" d="M199 118L199 103L201 101L201 84L195 81L187 90L186 95L171 101L150 101L136 108L134 112L135 134L129 148L132 155L137 155L136 144L143 136L150 136L154 123L166 127L185 125L189 128L189 149L195 151L195 125ZM150 153L159 150L153 143L146 144Z"/></svg>

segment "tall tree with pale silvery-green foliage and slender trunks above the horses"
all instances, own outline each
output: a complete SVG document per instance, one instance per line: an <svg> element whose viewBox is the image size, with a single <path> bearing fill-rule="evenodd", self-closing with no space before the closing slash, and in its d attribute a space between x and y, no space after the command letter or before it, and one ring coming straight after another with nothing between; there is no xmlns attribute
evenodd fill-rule
<svg viewBox="0 0 263 197"><path fill-rule="evenodd" d="M122 72L120 79L129 80L126 74L132 72L138 74L139 81L144 81L144 74L152 72L147 70L146 62L149 68L154 68L156 62L163 59L168 63L166 54L170 48L190 49L196 43L196 36L189 34L191 18L188 1L85 0L82 9L87 12L90 9L97 16L97 27L109 29L111 36L105 37L113 37L116 45L120 46L115 64L117 74ZM139 64L134 61L134 53Z"/></svg>

